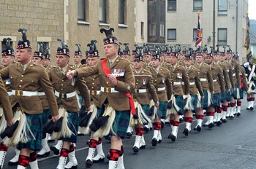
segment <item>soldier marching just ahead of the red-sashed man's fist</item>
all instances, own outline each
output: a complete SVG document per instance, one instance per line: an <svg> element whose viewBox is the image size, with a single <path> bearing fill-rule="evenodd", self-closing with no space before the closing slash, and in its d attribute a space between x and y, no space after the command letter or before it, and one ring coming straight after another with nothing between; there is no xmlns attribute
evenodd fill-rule
<svg viewBox="0 0 256 169"><path fill-rule="evenodd" d="M83 79L67 79L67 72L74 70L74 68L68 65L70 55L69 49L63 41L60 39L58 40L61 42L61 47L57 49L56 53L56 64L58 66L51 68L50 71L48 71L48 74L50 81L53 84L54 93L60 109L63 107L65 111L67 110L67 112L64 113L64 116L68 117L67 127L72 132L69 137L61 136L63 146L60 152L59 165L57 168L64 169L74 168L78 165L74 149L74 144L77 141L78 135L78 112L80 111L76 90L78 89L81 95L83 95L87 110L90 108L90 96L86 82ZM67 157L69 157L69 163L66 165Z"/></svg>

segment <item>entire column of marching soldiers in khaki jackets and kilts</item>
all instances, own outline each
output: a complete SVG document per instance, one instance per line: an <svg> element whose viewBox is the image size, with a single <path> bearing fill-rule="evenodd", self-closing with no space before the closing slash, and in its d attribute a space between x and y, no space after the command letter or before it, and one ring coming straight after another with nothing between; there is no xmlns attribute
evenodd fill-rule
<svg viewBox="0 0 256 169"><path fill-rule="evenodd" d="M110 28L100 30L106 35L104 59L99 59L97 41L92 40L86 51L87 64L81 64L83 55L76 44L72 66L69 48L58 39L61 47L56 50L56 66L50 66L49 49L39 43L39 50L33 53L26 29L19 31L22 40L16 53L10 47L11 39L4 39L7 47L1 52L4 115L0 122L0 168L9 146L17 150L8 164L18 168L39 168L37 158L47 157L50 150L59 155L56 168L78 168L75 144L79 133L90 134L86 168L105 160L105 135L110 135L111 141L108 168L124 168L122 139L129 127L135 127L133 152L138 153L146 148L144 136L151 127L151 145L157 146L162 142L165 122L171 129L165 136L176 141L181 120L186 124L184 135L192 132L193 114L197 132L203 126L214 127L214 123L221 126L227 117L241 116L244 92L247 109L253 110L255 64L249 58L249 63L239 66L238 55L230 47L222 52L218 46L211 52L205 47L203 53L200 48L181 52L179 45L174 51L172 47L150 49L146 45L136 46L130 55L126 43L125 57L121 58L120 44ZM202 125L204 115L207 122ZM50 134L59 140L56 146L48 146Z"/></svg>

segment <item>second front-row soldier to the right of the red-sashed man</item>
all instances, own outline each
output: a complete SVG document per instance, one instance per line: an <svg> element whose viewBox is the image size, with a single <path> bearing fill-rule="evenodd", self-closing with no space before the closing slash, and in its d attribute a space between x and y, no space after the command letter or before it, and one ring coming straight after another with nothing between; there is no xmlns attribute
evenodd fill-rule
<svg viewBox="0 0 256 169"><path fill-rule="evenodd" d="M172 84L170 81L170 71L160 66L159 54L152 54L152 67L149 69L153 76L154 87L157 90L159 106L157 107L157 117L153 120L154 135L151 141L152 146L162 141L161 119L165 119L167 113L167 103L170 101Z"/></svg>

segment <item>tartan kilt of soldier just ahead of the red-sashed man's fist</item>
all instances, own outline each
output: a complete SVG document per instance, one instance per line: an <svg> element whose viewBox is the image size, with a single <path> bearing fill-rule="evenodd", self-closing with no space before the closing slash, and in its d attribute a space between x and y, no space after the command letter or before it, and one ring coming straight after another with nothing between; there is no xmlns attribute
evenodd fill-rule
<svg viewBox="0 0 256 169"><path fill-rule="evenodd" d="M76 143L78 138L78 126L79 126L78 112L67 111L67 126L69 127L69 130L72 131L71 137L69 138L62 137L59 140Z"/></svg>

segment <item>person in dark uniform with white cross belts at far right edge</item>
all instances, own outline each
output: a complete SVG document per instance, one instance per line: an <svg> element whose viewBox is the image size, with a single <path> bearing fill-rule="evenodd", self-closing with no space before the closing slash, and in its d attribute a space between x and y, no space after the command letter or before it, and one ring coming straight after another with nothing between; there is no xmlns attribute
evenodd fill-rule
<svg viewBox="0 0 256 169"><path fill-rule="evenodd" d="M246 110L253 110L253 104L255 102L256 93L256 65L255 63L253 63L252 56L250 56L248 60L248 63L244 63L245 71L247 74L247 83L249 84L247 91L248 107L246 108Z"/></svg>

